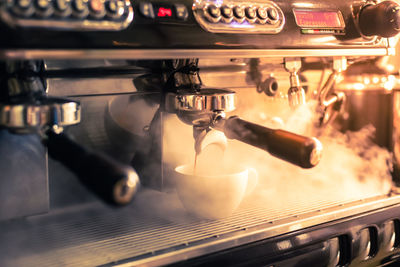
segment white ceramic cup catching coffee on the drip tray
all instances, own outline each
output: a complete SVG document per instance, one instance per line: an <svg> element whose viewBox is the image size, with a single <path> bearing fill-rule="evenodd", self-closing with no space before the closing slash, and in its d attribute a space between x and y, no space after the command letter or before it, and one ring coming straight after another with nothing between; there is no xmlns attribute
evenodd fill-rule
<svg viewBox="0 0 400 267"><path fill-rule="evenodd" d="M193 166L175 168L176 188L187 211L200 218L220 219L231 215L258 183L253 168L238 168L218 175L196 175Z"/></svg>

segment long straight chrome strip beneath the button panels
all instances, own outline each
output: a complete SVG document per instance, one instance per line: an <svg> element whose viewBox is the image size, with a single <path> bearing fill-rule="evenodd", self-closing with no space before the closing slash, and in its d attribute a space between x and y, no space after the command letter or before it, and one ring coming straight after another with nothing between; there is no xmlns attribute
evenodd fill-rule
<svg viewBox="0 0 400 267"><path fill-rule="evenodd" d="M386 56L388 48L345 49L5 49L0 59L173 59Z"/></svg>

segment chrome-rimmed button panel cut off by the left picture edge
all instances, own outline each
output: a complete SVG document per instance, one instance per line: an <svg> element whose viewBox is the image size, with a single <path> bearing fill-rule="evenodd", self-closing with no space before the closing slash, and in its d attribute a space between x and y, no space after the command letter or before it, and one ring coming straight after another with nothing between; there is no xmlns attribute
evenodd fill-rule
<svg viewBox="0 0 400 267"><path fill-rule="evenodd" d="M122 30L134 16L129 0L6 0L0 17L11 26Z"/></svg>

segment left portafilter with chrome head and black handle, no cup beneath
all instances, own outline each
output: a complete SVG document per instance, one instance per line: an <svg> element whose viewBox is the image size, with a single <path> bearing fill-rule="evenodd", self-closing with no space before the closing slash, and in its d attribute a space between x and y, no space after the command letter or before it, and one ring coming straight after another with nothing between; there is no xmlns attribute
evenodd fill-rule
<svg viewBox="0 0 400 267"><path fill-rule="evenodd" d="M69 99L40 96L0 104L0 128L39 134L49 156L73 171L89 190L107 203L128 204L140 187L136 171L63 133L64 127L80 120L80 103Z"/></svg>

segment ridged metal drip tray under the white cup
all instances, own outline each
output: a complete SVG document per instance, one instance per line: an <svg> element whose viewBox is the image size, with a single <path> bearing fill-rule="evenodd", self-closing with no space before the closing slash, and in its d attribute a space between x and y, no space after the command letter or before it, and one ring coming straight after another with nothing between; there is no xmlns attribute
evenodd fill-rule
<svg viewBox="0 0 400 267"><path fill-rule="evenodd" d="M284 207L249 199L228 218L201 220L175 194L143 191L121 209L94 203L1 223L0 265L162 265L400 202L398 195L313 198Z"/></svg>

